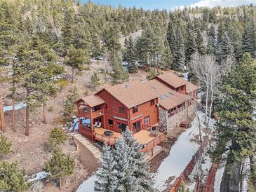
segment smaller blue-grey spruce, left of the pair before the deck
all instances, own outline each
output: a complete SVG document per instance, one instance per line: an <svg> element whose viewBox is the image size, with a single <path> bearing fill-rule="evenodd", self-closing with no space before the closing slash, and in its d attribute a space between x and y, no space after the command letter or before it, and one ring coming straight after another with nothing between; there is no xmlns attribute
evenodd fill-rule
<svg viewBox="0 0 256 192"><path fill-rule="evenodd" d="M97 191L115 191L117 187L115 165L112 149L109 145L105 144L102 149L102 163L96 172L95 189Z"/></svg>

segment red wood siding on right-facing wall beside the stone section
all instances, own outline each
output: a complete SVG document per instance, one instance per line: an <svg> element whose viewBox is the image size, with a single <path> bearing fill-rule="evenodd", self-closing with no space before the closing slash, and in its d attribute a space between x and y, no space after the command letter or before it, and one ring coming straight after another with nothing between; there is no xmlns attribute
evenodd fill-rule
<svg viewBox="0 0 256 192"><path fill-rule="evenodd" d="M154 125L159 122L158 118L158 110L156 107L158 100L154 99L154 104L151 105L150 101L140 104L138 106L137 112L133 113L133 108L129 109L129 116L130 116L130 128L132 128L133 123L140 121L141 129L142 125L144 125L145 117L149 116L149 125ZM139 118L136 118L140 116ZM136 118L136 119L133 119ZM133 130L134 131L134 130Z"/></svg>

